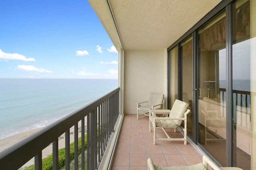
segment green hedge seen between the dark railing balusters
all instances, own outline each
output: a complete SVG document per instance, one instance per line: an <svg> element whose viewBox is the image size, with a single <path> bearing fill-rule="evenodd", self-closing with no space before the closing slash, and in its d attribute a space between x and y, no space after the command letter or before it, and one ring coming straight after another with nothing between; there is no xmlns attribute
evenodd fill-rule
<svg viewBox="0 0 256 170"><path fill-rule="evenodd" d="M75 155L75 143L70 143L70 160L74 159ZM84 135L84 149L87 150L87 134ZM78 154L82 152L82 137L78 138ZM65 148L59 149L59 168L65 166ZM25 170L34 170L34 165L29 166ZM42 159L42 169L52 170L52 154L48 155L46 158Z"/></svg>

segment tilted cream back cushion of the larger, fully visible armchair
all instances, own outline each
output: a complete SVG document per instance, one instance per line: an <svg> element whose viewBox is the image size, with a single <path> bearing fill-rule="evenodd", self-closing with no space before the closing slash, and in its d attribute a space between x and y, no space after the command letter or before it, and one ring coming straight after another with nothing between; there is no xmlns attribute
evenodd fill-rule
<svg viewBox="0 0 256 170"><path fill-rule="evenodd" d="M184 113L188 109L188 104L180 100L175 100L172 109L170 111L169 117L182 118ZM182 120L173 120L178 126L182 123Z"/></svg>

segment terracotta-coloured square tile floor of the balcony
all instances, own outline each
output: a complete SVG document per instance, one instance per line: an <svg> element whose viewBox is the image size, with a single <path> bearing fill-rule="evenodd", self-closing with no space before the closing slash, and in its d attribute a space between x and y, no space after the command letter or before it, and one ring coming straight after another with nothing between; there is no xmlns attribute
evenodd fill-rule
<svg viewBox="0 0 256 170"><path fill-rule="evenodd" d="M157 129L157 137L166 137ZM179 131L168 131L170 137L183 136ZM161 166L186 166L202 162L201 154L188 142L156 141L153 145L153 131L149 132L149 117L125 114L112 170L147 170L147 159Z"/></svg>

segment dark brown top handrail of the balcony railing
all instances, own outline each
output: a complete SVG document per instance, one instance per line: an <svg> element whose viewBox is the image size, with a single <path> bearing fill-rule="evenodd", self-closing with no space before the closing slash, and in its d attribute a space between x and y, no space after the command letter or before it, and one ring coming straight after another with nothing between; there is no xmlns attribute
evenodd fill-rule
<svg viewBox="0 0 256 170"><path fill-rule="evenodd" d="M30 135L22 141L14 144L13 146L0 152L0 167L1 164L15 164L22 166L24 162L27 162L33 158L36 154L41 152L54 140L58 139L60 135L68 131L70 127L80 121L83 117L92 112L95 108L100 106L103 102L108 100L111 96L116 94L120 88L116 88L112 92L94 100L86 106L70 113L69 115L55 121L54 123L44 127L40 131ZM33 149L31 147L33 146ZM20 156L26 153L25 156ZM29 159L28 159L29 158ZM18 167L20 168L20 167Z"/></svg>

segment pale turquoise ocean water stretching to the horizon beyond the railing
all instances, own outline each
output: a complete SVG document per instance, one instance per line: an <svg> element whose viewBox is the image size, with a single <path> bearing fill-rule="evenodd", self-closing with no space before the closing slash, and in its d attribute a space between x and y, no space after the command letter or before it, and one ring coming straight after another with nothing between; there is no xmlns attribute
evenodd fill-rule
<svg viewBox="0 0 256 170"><path fill-rule="evenodd" d="M0 139L50 125L117 87L117 79L0 78Z"/></svg>

